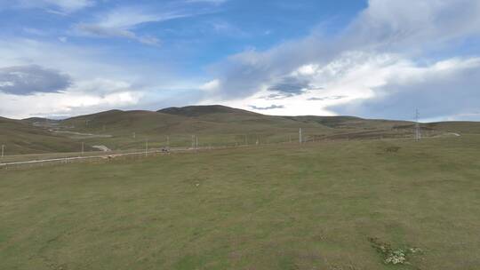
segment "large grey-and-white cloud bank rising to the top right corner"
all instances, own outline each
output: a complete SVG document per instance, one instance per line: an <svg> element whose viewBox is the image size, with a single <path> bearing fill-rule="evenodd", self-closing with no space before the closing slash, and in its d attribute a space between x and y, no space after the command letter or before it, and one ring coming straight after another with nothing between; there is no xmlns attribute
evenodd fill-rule
<svg viewBox="0 0 480 270"><path fill-rule="evenodd" d="M422 86L431 88L419 98L440 100L444 87L436 84L438 78L415 73L426 65L435 69L444 62L450 62L452 70L459 69L464 62L452 60L455 55L451 54L459 42L475 36L480 36L480 2L476 0L371 0L337 36L327 38L314 32L267 51L249 49L212 66L211 72L219 82L220 99L244 99L245 104L255 97L253 100L284 99L282 114L292 109L292 102L309 100L320 111L368 116L375 115L375 107L388 104L388 100L398 99L396 107L409 110L405 105L411 101L399 97L419 90L413 87L420 85L418 76L425 80ZM428 58L432 52L437 59ZM436 64L429 65L431 62ZM463 74L453 72L449 82L460 82L461 78L464 84L478 85L476 75ZM472 93L465 87L456 89L457 102ZM369 106L372 114L367 114ZM438 102L430 106L439 107ZM456 110L465 113L464 109ZM390 116L395 114L406 117L399 111L392 111Z"/></svg>

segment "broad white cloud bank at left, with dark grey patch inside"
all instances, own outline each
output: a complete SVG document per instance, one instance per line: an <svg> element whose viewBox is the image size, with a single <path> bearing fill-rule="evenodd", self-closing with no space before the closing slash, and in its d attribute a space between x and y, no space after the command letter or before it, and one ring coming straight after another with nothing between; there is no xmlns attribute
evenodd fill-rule
<svg viewBox="0 0 480 270"><path fill-rule="evenodd" d="M162 89L168 88L171 80L175 81L168 72L172 67L152 67L144 62L119 66L104 53L73 44L15 38L1 40L0 70L6 75L10 75L11 71L19 75L18 67L28 67L20 69L23 74L28 71L28 76L23 76L28 80L3 76L0 78L0 89L11 90L13 86L18 86L16 82L35 87L28 88L28 92L22 95L0 90L0 99L4 101L0 115L12 118L67 116L112 108L141 107L141 104L164 99ZM68 76L68 83L57 83L64 75ZM40 78L44 83L35 83ZM58 91L59 85L62 86L61 92L38 93ZM22 91L26 89L22 88ZM152 97L148 92L156 92L156 96Z"/></svg>

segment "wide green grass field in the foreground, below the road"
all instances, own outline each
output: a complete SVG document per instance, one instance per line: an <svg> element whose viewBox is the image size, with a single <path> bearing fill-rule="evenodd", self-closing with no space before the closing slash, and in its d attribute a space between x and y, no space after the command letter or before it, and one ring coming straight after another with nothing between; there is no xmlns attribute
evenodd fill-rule
<svg viewBox="0 0 480 270"><path fill-rule="evenodd" d="M1 269L479 269L480 136L0 170ZM369 240L407 254L386 265Z"/></svg>

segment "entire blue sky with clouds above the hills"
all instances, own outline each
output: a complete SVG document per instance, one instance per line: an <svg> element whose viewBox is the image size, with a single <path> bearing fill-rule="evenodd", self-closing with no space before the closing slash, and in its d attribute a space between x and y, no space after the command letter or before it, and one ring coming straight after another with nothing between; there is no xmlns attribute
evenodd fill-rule
<svg viewBox="0 0 480 270"><path fill-rule="evenodd" d="M0 116L480 120L478 0L0 0Z"/></svg>

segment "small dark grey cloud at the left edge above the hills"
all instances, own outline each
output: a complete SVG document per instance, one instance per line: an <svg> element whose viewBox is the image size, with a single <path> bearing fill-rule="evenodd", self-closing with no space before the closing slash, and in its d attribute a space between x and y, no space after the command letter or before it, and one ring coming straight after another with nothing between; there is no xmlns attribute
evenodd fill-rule
<svg viewBox="0 0 480 270"><path fill-rule="evenodd" d="M69 75L36 65L0 67L0 91L15 95L65 91L71 84Z"/></svg>

